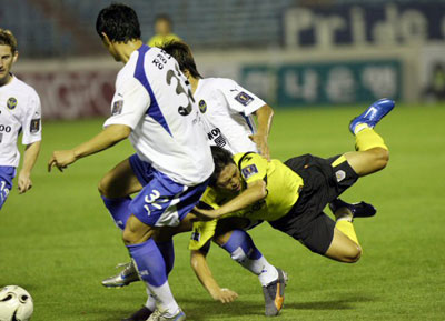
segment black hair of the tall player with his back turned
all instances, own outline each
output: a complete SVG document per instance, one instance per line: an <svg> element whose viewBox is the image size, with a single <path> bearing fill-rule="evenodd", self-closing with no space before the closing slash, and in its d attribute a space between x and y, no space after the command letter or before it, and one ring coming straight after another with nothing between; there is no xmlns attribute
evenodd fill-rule
<svg viewBox="0 0 445 321"><path fill-rule="evenodd" d="M112 3L100 10L96 20L96 31L115 42L127 43L140 39L140 27L135 10L122 3Z"/></svg>

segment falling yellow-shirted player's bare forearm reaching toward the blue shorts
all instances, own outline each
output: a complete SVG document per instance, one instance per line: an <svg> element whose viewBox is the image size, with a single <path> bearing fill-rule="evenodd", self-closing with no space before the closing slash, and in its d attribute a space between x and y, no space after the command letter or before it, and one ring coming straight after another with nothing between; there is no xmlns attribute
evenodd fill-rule
<svg viewBox="0 0 445 321"><path fill-rule="evenodd" d="M235 199L225 203L216 210L202 210L195 208L192 212L200 220L218 219L225 214L235 213L240 211L267 197L266 182L257 180L247 185L247 189L238 194Z"/></svg>

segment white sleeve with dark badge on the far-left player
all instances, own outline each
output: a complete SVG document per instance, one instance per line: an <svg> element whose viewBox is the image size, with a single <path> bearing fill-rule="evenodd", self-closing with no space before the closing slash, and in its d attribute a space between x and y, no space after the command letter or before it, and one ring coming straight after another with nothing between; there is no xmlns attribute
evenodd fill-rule
<svg viewBox="0 0 445 321"><path fill-rule="evenodd" d="M30 144L41 140L41 106L37 93L29 99L21 128L23 130L22 144Z"/></svg>

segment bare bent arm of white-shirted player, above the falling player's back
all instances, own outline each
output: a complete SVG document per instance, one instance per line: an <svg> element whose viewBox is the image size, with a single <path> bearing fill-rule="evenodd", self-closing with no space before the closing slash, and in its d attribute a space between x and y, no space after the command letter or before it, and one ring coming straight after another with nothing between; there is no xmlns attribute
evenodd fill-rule
<svg viewBox="0 0 445 321"><path fill-rule="evenodd" d="M249 136L249 138L257 144L258 149L267 160L270 160L269 146L267 139L270 133L271 121L274 119L274 109L265 104L257 111L255 111L258 122L258 130L255 134Z"/></svg>

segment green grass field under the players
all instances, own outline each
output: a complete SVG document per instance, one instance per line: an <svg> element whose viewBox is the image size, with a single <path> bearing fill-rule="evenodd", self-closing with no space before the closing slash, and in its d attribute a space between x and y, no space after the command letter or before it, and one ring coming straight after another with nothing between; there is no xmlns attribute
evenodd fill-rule
<svg viewBox="0 0 445 321"><path fill-rule="evenodd" d="M354 148L347 126L356 108L278 110L270 138L275 158L310 152L330 157ZM267 223L251 231L266 258L289 274L276 320L445 320L445 106L398 106L377 131L389 165L344 194L378 209L355 221L364 254L343 264L313 254ZM102 120L44 124L33 189L12 191L0 212L0 285L19 284L34 299L33 321L118 321L146 300L139 282L101 287L127 250L97 192L99 179L131 153L129 143L47 173L55 149L71 148ZM189 267L189 234L175 239L170 285L188 320L266 320L257 278L212 247L209 263L236 302L214 302Z"/></svg>

